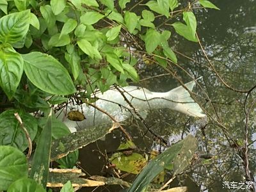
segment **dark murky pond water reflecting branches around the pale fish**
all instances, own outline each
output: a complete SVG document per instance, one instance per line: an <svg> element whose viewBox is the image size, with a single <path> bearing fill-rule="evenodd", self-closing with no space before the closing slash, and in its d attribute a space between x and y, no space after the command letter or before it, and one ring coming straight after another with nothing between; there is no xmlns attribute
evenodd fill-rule
<svg viewBox="0 0 256 192"><path fill-rule="evenodd" d="M255 175L256 106L253 102L256 91L252 90L248 97L241 92L247 92L256 84L256 1L214 0L212 3L221 10L195 10L198 36L211 63L205 58L200 45L175 35L170 42L177 51L179 60L180 67L172 66L177 77L184 83L191 81L188 74L192 77L203 77L198 81L200 86L196 86L194 92L210 118L196 120L161 109L153 110L146 121L150 129L169 144L188 134L193 134L198 140L197 153L204 158L196 161L190 172L173 180L171 186L188 186L189 191L245 191L246 189L228 189L223 186L223 182L237 182L237 186L239 182L246 182L248 175L244 172L243 156L246 127L249 170L251 176ZM170 26L163 25L163 28ZM140 71L141 79L146 79L140 82L140 86L148 90L166 92L179 86L175 78L157 65L143 65ZM167 75L159 76L161 74ZM246 118L244 110L248 109L250 114ZM157 142L135 119L126 122L125 129L131 132L134 143L141 151L150 152L152 146L161 149L161 142ZM106 136L104 141L97 141L81 149L80 166L87 176L110 177L113 170L106 170L106 157L110 157L123 140L122 134L115 131ZM121 176L130 182L134 178L131 174ZM122 188L119 186L105 186L95 191L120 189Z"/></svg>

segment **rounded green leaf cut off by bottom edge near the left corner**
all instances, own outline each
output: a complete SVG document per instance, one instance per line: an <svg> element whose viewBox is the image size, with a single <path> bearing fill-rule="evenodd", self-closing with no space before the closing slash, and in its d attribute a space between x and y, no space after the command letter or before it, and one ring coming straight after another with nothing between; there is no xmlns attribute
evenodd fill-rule
<svg viewBox="0 0 256 192"><path fill-rule="evenodd" d="M46 192L35 180L22 178L10 185L7 192Z"/></svg>

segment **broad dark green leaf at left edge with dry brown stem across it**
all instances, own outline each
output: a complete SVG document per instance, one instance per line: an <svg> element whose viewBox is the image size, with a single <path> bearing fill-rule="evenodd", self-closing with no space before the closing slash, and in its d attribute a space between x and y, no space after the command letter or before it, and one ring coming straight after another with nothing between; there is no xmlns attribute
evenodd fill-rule
<svg viewBox="0 0 256 192"><path fill-rule="evenodd" d="M28 148L28 140L25 132L20 127L18 120L15 118L14 113L19 113L19 116L29 132L31 141L34 140L37 132L36 119L28 113L22 113L15 109L4 111L0 115L0 145L11 145L24 151Z"/></svg>

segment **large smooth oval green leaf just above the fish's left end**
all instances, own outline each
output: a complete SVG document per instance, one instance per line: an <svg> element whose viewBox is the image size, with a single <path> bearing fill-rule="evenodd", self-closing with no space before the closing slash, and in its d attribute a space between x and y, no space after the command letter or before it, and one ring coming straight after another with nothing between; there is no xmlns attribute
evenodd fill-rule
<svg viewBox="0 0 256 192"><path fill-rule="evenodd" d="M29 81L44 92L69 95L76 92L71 77L61 63L42 52L23 54L24 70Z"/></svg>

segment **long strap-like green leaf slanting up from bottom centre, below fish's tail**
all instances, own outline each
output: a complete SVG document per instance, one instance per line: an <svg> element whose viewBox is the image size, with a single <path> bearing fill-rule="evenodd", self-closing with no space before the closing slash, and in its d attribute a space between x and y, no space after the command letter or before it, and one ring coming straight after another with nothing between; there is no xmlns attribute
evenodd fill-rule
<svg viewBox="0 0 256 192"><path fill-rule="evenodd" d="M152 159L145 168L143 168L142 172L136 177L134 182L132 183L131 188L129 188L128 192L140 192L145 191L147 189L148 184L161 172L163 172L164 168L170 166L170 163L179 156L180 152L189 152L191 150L191 154L193 154L193 150L195 149L195 138L189 135L184 140L179 143L175 143L172 147L164 150L163 153L159 154L156 158ZM189 148L189 144L192 144L191 148ZM186 147L185 147L186 146ZM189 159L190 161L191 159ZM176 161L177 166L182 166L183 163Z"/></svg>

